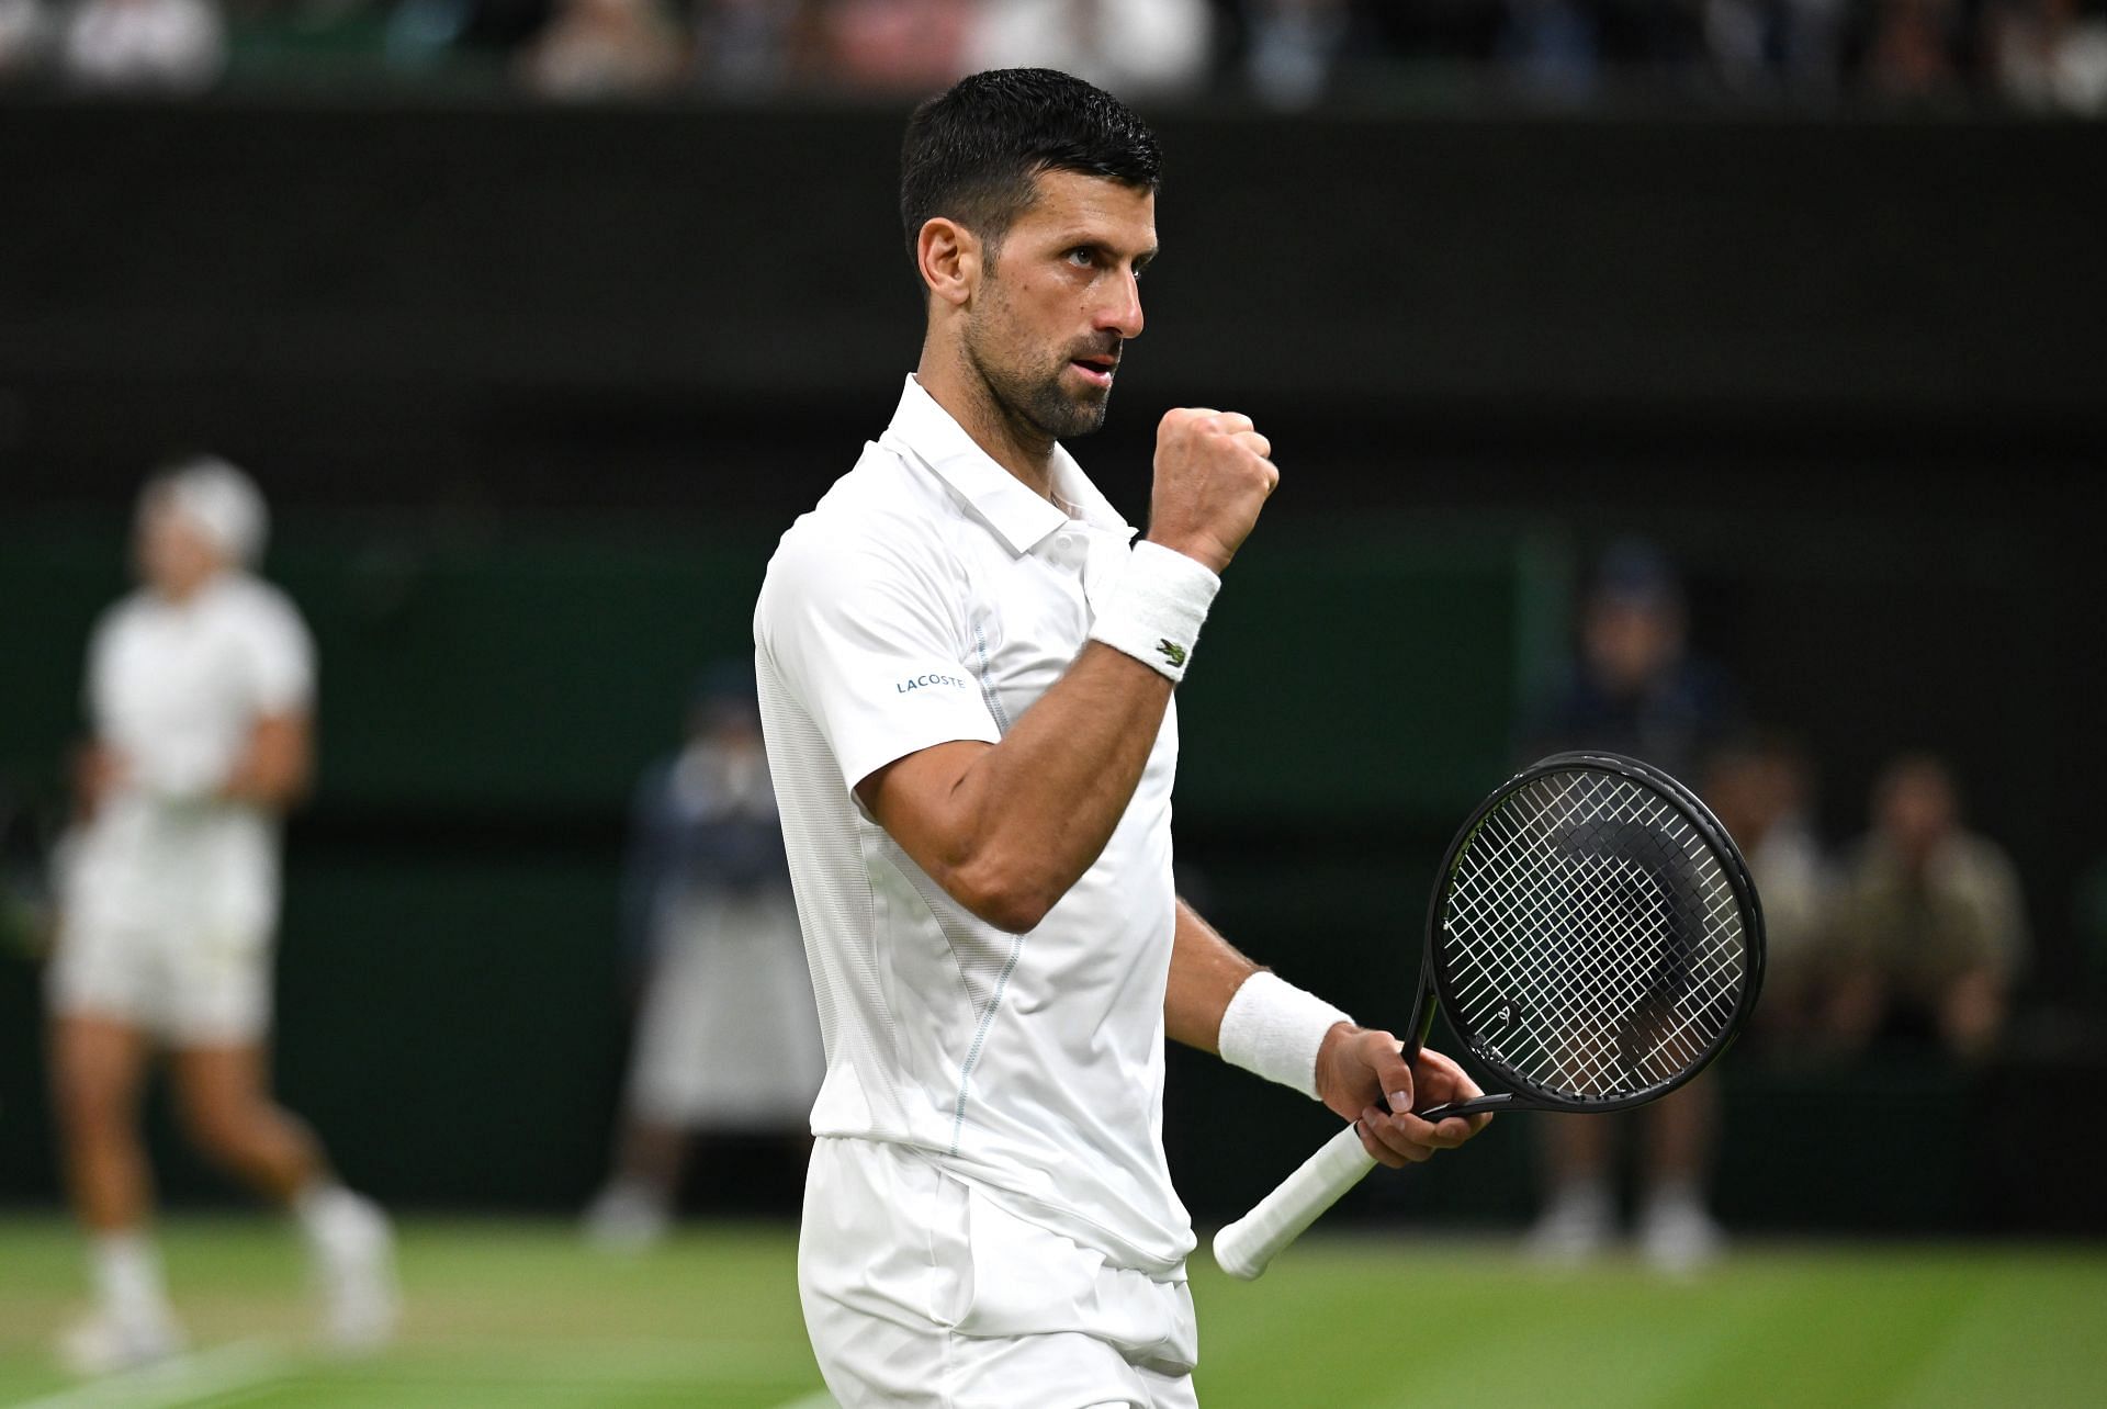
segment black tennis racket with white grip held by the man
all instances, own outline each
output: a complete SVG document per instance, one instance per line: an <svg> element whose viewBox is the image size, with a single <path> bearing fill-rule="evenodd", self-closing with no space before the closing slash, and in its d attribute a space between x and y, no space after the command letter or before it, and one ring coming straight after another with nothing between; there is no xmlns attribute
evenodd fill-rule
<svg viewBox="0 0 2107 1409"><path fill-rule="evenodd" d="M1637 758L1544 758L1462 823L1426 908L1405 1059L1435 1005L1507 1087L1418 1112L1606 1112L1667 1095L1740 1032L1764 984L1764 912L1719 819ZM1342 1129L1214 1238L1252 1278L1376 1160Z"/></svg>

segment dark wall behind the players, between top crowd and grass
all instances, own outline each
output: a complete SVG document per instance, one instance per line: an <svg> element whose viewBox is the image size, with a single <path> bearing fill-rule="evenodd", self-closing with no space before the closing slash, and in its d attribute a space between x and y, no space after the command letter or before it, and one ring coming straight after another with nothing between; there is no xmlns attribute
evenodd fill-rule
<svg viewBox="0 0 2107 1409"><path fill-rule="evenodd" d="M697 668L750 649L773 537L914 362L898 131L0 105L11 855L57 813L139 478L185 449L247 465L322 647L282 1085L386 1200L571 1207L600 1173L628 790ZM2107 853L2103 131L1201 110L1159 133L1148 331L1079 453L1140 520L1157 415L1226 404L1285 474L1180 693L1188 891L1289 977L1403 1021L1441 845L1513 762L1589 558L1648 535L1696 647L1818 760L1829 840L1886 758L1934 748L2037 939L1989 1072L1730 1070L1721 1213L2107 1228L2063 1156L2107 1066L2075 916ZM36 967L0 958L11 1200L55 1190L36 1045ZM1325 1127L1212 1061L1171 1083L1201 1217ZM1523 1125L1363 1209L1519 1217ZM169 1158L179 1194L219 1188Z"/></svg>

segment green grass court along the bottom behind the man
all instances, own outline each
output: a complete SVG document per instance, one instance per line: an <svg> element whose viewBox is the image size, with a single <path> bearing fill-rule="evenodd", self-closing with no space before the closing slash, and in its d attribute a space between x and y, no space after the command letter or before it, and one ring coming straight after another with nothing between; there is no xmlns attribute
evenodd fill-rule
<svg viewBox="0 0 2107 1409"><path fill-rule="evenodd" d="M820 1390L792 1234L697 1226L600 1255L560 1224L413 1222L398 1346L306 1346L295 1238L164 1230L202 1354L78 1388L48 1358L82 1304L57 1219L0 1219L0 1405L65 1409L773 1409ZM1504 1245L1334 1234L1241 1285L1195 1259L1207 1409L1393 1405L2107 1403L2107 1249L1753 1247L1690 1283L1610 1262L1547 1274Z"/></svg>

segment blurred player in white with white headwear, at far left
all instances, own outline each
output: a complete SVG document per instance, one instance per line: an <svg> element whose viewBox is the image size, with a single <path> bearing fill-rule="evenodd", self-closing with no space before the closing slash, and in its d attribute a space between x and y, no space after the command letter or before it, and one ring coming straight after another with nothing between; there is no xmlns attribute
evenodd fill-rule
<svg viewBox="0 0 2107 1409"><path fill-rule="evenodd" d="M314 644L293 602L249 571L265 527L255 484L223 461L152 478L135 524L141 586L88 647L93 737L48 973L53 1095L97 1299L61 1346L82 1371L181 1346L139 1137L156 1051L196 1146L297 1215L331 1339L371 1346L394 1323L386 1219L268 1091L278 817L312 771Z"/></svg>

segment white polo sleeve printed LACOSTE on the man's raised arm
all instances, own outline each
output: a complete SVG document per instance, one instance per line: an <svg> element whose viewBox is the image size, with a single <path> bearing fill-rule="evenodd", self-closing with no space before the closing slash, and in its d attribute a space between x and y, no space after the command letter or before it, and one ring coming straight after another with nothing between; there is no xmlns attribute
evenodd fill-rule
<svg viewBox="0 0 2107 1409"><path fill-rule="evenodd" d="M763 621L786 684L826 735L841 781L954 739L999 741L967 666L961 588L885 543L784 543Z"/></svg>

